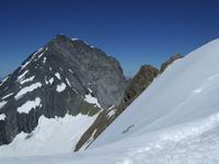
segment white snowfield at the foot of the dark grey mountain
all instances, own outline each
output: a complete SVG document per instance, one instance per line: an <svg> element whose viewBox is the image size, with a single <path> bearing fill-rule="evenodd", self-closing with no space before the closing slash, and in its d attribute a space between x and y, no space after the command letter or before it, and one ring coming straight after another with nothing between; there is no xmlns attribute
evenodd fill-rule
<svg viewBox="0 0 219 164"><path fill-rule="evenodd" d="M31 134L22 132L9 145L0 147L0 156L70 153L96 116L67 114L64 118L50 119L41 116L37 128Z"/></svg>

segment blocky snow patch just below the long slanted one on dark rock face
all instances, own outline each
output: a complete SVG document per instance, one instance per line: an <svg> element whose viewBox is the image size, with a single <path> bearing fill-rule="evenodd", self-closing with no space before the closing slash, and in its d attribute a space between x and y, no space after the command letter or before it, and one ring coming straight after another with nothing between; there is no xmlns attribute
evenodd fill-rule
<svg viewBox="0 0 219 164"><path fill-rule="evenodd" d="M39 97L36 97L34 101L27 101L25 104L18 108L18 112L20 114L28 114L32 109L35 109L36 107L42 107L41 103L42 99Z"/></svg>

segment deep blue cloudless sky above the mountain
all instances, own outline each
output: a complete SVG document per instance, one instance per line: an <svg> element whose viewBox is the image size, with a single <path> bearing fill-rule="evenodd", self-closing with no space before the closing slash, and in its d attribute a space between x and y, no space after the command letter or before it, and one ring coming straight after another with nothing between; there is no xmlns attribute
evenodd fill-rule
<svg viewBox="0 0 219 164"><path fill-rule="evenodd" d="M1 0L0 75L57 34L116 57L125 73L219 37L217 0Z"/></svg>

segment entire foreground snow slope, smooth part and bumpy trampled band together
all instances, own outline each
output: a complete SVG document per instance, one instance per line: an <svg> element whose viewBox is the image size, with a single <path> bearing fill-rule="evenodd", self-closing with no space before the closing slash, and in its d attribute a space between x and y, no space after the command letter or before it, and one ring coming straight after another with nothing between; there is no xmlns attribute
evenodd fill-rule
<svg viewBox="0 0 219 164"><path fill-rule="evenodd" d="M4 157L0 162L218 164L218 39L175 61L87 151L50 156ZM60 141L65 140L60 138ZM22 143L22 147L28 144ZM5 151L3 147L2 150Z"/></svg>

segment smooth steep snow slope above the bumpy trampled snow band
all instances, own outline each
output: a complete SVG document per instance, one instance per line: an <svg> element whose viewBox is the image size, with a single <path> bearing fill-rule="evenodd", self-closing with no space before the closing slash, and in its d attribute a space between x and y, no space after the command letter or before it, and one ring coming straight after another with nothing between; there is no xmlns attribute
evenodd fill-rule
<svg viewBox="0 0 219 164"><path fill-rule="evenodd" d="M219 112L219 39L176 60L92 144L103 145Z"/></svg>

